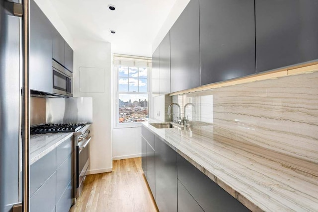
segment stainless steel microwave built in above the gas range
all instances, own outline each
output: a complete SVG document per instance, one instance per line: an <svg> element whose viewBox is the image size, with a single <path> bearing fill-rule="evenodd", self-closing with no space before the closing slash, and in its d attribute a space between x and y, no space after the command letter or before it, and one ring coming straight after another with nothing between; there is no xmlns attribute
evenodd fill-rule
<svg viewBox="0 0 318 212"><path fill-rule="evenodd" d="M73 73L53 60L53 93L73 96Z"/></svg>

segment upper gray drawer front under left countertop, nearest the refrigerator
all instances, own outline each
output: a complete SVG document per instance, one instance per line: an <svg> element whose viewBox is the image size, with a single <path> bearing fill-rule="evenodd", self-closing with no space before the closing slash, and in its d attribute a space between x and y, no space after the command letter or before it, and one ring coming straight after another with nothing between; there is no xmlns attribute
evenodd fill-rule
<svg viewBox="0 0 318 212"><path fill-rule="evenodd" d="M30 197L55 172L55 149L33 163L30 167Z"/></svg>

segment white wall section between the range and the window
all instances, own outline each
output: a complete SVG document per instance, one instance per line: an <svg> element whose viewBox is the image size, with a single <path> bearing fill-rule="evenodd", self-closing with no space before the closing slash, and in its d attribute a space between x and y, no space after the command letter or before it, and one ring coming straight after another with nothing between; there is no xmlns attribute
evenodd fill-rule
<svg viewBox="0 0 318 212"><path fill-rule="evenodd" d="M93 98L93 138L90 142L90 170L88 174L112 170L111 142L111 44L90 40L74 40L74 96ZM80 92L80 67L104 69L104 91L100 93ZM86 86L95 86L89 84ZM98 86L100 87L100 86Z"/></svg>

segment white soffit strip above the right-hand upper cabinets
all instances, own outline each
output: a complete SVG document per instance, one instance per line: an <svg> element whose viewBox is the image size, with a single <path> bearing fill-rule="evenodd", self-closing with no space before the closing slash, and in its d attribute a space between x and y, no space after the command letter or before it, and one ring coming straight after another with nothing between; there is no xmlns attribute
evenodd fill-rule
<svg viewBox="0 0 318 212"><path fill-rule="evenodd" d="M183 9L188 5L190 0L176 0L170 13L168 14L166 20L163 22L158 35L155 37L153 41L153 47L152 47L152 53L155 52L157 47L159 46L160 42L164 38L164 36L168 33L171 26L174 24L174 22L178 19L180 14L182 13Z"/></svg>

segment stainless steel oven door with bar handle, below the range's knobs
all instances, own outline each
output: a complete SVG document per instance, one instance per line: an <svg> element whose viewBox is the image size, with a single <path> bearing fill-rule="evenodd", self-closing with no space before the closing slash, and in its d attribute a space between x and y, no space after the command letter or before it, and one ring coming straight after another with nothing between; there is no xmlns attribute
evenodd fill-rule
<svg viewBox="0 0 318 212"><path fill-rule="evenodd" d="M77 146L77 197L79 197L83 180L89 166L89 141L91 137L84 142L82 146Z"/></svg>

